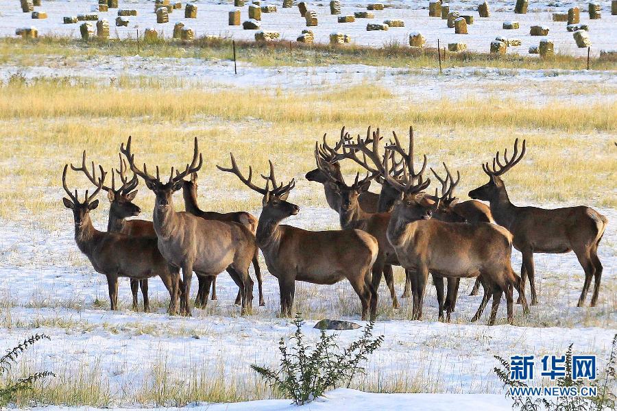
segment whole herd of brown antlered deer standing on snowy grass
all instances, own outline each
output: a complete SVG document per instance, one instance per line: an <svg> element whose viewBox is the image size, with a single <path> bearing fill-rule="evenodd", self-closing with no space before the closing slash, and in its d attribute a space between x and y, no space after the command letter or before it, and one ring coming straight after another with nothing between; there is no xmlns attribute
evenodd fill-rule
<svg viewBox="0 0 617 411"><path fill-rule="evenodd" d="M134 310L141 288L144 311L149 311L148 279L158 276L169 291L169 313L191 315L193 273L199 284L195 306L203 308L210 288L211 298L216 299L217 275L227 271L239 287L236 303L241 304L242 314L250 312L254 285L249 275L251 265L258 282L259 304L265 303L259 250L269 273L278 279L284 316L290 316L293 310L295 282L335 284L347 279L361 301L361 318L374 320L382 277L392 306L399 307L394 265L405 271L402 297L413 298L413 319L422 319L430 273L439 319L444 319L445 311L450 321L460 279L474 278L472 294L482 286L483 297L472 321L480 318L492 297L488 323L494 324L505 293L507 320L512 323L513 290L518 292L517 303L522 304L523 312L529 312L524 291L527 277L531 305L538 303L533 253L570 251L574 251L585 271L578 306L583 306L592 278L591 306L595 306L602 276L597 250L607 219L585 206L553 210L514 206L501 176L522 160L525 151L525 141L519 147L518 139L510 156L507 149L503 155L498 151L492 164L482 166L489 177L487 184L469 192L472 200L457 201L454 190L461 176L457 172L455 177L445 163L441 172L429 168L439 187L434 194L427 191L431 184L426 172L427 157L424 155L420 166L415 163L411 127L407 146L396 133L384 140L379 129L371 131L370 127L364 138L350 137L343 127L333 147L324 135L323 142L315 143L317 168L306 173L306 179L323 184L328 206L339 214L339 230L309 231L282 224L300 212L298 206L287 201L295 180L279 182L274 164L269 162L269 174L261 174L261 184L254 182L252 166L244 173L232 153L230 166L217 168L236 175L262 196L259 219L243 211L201 210L197 205L197 171L203 157L197 138L190 164L184 170L172 167L167 180L161 177L158 166L153 175L146 164L136 164L130 137L120 147L119 169L111 170L110 186L105 185L108 172L94 162L88 164L84 151L81 166L71 164L71 169L87 177L93 192L88 195L86 190L84 201L80 201L77 190L69 190L66 164L62 186L68 198L63 201L66 208L73 210L77 247L95 271L107 277L112 310L118 308L119 277L129 277ZM366 176L361 178L357 173L354 182L348 184L341 172L343 160L359 164L367 171ZM156 197L152 221L128 219L141 212L132 202L138 177ZM381 186L378 194L369 191L373 180ZM107 192L110 201L106 232L95 229L90 219L90 210L99 205L95 197L101 190ZM183 193L184 212L176 211L173 203L173 194L178 190ZM477 200L487 201L489 206ZM512 247L522 253L520 277L511 266Z"/></svg>

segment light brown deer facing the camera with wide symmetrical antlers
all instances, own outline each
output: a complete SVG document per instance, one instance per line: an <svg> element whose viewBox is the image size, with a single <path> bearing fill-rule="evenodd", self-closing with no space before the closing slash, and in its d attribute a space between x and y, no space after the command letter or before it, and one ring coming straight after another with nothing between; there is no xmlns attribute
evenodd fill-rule
<svg viewBox="0 0 617 411"><path fill-rule="evenodd" d="M158 249L173 266L182 269L182 314L191 315L189 293L193 271L206 277L206 296L209 294L212 277L227 271L242 290L241 314L252 309L253 282L249 266L256 253L255 236L245 225L235 221L206 220L189 212L177 212L173 205L173 193L182 188L182 180L202 168L203 156L199 153L197 137L193 147L193 159L182 173L172 167L166 183L160 179L158 166L156 177L147 171L144 163L139 169L131 152L131 137L122 143L120 152L125 156L131 170L141 177L146 187L154 192L153 223L158 238Z"/></svg>

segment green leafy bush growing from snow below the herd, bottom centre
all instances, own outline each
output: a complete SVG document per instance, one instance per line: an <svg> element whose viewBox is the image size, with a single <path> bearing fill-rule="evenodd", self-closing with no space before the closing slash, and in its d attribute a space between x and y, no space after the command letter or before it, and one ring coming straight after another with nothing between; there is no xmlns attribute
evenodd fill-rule
<svg viewBox="0 0 617 411"><path fill-rule="evenodd" d="M328 335L324 329L315 346L309 347L302 334L304 321L300 314L296 314L293 323L295 333L289 339L293 344L288 346L284 338L280 339L278 371L255 364L251 368L285 397L293 398L298 406L322 397L330 388L341 385L349 388L354 375L364 372L361 362L383 342L383 336L372 338L374 323L371 322L364 327L361 338L346 349L339 348L336 334Z"/></svg>

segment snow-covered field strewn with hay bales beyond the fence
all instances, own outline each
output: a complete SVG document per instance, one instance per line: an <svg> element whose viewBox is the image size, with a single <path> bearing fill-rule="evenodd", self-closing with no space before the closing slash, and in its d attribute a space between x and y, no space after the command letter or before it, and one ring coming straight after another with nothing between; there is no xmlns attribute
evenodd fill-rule
<svg viewBox="0 0 617 411"><path fill-rule="evenodd" d="M80 13L90 12L94 1L87 0L43 0L43 4L36 10L47 12L49 17L43 20L32 19L29 13L21 11L19 1L6 1L0 10L0 36L14 36L15 29L19 27L34 26L40 34L54 34L60 36L80 36L78 24L64 25L62 17L77 16ZM125 0L120 1L120 8L137 10L137 16L128 17L128 27L115 27L117 9L108 12L99 12L99 18L110 21L112 36L126 38L136 36L136 29L141 33L147 27L156 28L165 37L170 37L173 25L182 21L186 27L195 29L197 36L213 34L237 39L254 39L255 30L243 30L241 26L228 25L228 12L233 9L233 3L217 0L197 0L197 18L184 18L184 10L174 10L169 15L169 23L156 23L153 1ZM271 1L278 11L275 13L263 13L261 29L273 30L280 33L282 39L295 40L307 28L306 22L297 7L282 8L282 1ZM473 51L488 52L492 40L497 36L521 40L521 45L509 47L509 53L527 55L530 46L537 46L542 38L548 38L555 43L555 50L560 53L572 55L586 55L587 49L579 49L574 42L572 33L566 30L564 22L554 22L553 12L565 12L568 8L576 5L581 9L581 23L589 26L589 34L592 42L592 53L598 55L601 50L617 49L615 41L617 16L611 15L610 1L603 0L598 3L602 7L602 18L590 20L587 10L587 1L533 1L529 4L527 14L514 14L515 1L496 0L489 1L491 15L489 18L481 18L477 12L477 1L450 1L450 10L459 11L461 14L470 14L474 17L474 24L468 26L469 34L455 34L454 29L446 26L446 21L441 18L428 17L428 1L383 1L391 6L383 11L375 11L374 18L356 18L353 23L337 23L337 16L330 15L328 1L309 1L310 10L318 14L319 25L309 27L315 33L315 41L328 42L332 32L349 34L352 41L359 45L383 46L387 44L409 45L409 33L421 32L426 38L426 45L437 46L437 39L441 45L450 42L465 42L468 49ZM341 15L353 14L353 12L366 10L365 4L372 1L346 1L342 0ZM248 18L248 5L241 8L241 20ZM263 2L263 4L266 4ZM383 23L386 19L402 19L404 27L392 27L387 32L368 32L367 23ZM518 21L520 29L505 30L504 21ZM529 28L532 25L543 25L550 29L548 36L531 36Z"/></svg>

